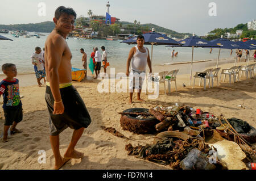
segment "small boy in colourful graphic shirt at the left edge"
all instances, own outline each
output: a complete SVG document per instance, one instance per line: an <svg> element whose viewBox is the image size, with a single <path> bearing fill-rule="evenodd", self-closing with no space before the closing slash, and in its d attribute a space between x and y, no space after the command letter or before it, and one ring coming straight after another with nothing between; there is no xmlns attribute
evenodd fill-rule
<svg viewBox="0 0 256 181"><path fill-rule="evenodd" d="M5 112L5 124L3 127L3 142L7 142L8 130L12 125L11 134L21 133L16 125L22 121L22 102L19 96L19 80L14 64L3 64L2 71L6 78L0 82L0 96L3 95L3 111Z"/></svg>

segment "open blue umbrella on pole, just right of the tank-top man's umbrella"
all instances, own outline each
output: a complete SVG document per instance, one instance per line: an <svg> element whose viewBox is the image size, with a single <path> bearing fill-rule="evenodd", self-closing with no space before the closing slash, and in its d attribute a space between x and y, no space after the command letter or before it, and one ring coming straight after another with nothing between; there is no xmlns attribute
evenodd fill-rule
<svg viewBox="0 0 256 181"><path fill-rule="evenodd" d="M197 48L197 47L213 47L214 48L214 47L220 47L220 46L208 40L201 39L200 37L195 36L195 34L193 34L192 37L188 37L187 39L180 40L179 43L181 44L181 47L192 47L191 72L190 72L190 82L189 82L189 85L191 85L194 48ZM167 47L177 47L177 46L167 46Z"/></svg>

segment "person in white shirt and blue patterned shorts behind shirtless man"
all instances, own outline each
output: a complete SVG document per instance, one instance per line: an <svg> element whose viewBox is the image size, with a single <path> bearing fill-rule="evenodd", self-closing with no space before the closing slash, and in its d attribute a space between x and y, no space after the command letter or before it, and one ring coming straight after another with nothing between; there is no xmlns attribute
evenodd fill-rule
<svg viewBox="0 0 256 181"><path fill-rule="evenodd" d="M35 48L35 52L31 56L32 64L34 65L34 71L36 79L38 81L38 86L41 87L42 83L40 82L44 77L46 77L46 70L44 69L44 57L40 47ZM46 80L44 79L46 82Z"/></svg>

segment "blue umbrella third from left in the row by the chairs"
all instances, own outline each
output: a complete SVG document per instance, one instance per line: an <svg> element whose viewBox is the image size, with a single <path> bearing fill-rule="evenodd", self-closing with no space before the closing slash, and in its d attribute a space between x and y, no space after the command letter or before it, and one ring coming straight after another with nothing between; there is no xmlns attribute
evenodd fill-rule
<svg viewBox="0 0 256 181"><path fill-rule="evenodd" d="M241 48L240 44L237 44L234 41L224 39L223 36L221 36L221 38L219 38L219 39L215 39L215 40L212 40L210 42L220 46L220 50L218 51L218 60L220 60L221 49L240 49ZM218 60L217 60L216 68L218 68ZM236 60L237 60L237 57L236 57ZM236 63L235 63L235 66L236 66Z"/></svg>

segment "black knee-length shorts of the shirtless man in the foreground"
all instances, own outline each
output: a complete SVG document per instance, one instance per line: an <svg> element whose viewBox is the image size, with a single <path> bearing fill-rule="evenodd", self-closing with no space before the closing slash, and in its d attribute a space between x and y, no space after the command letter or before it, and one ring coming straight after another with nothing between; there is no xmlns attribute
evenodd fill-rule
<svg viewBox="0 0 256 181"><path fill-rule="evenodd" d="M57 136L64 129L72 128L78 130L80 128L87 128L92 120L87 111L84 101L79 92L73 86L60 89L61 99L64 104L64 113L62 115L54 115L53 104L54 98L51 88L46 86L46 103L49 111L49 124L51 136Z"/></svg>

